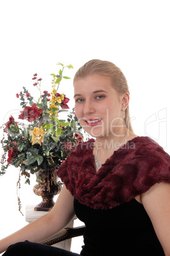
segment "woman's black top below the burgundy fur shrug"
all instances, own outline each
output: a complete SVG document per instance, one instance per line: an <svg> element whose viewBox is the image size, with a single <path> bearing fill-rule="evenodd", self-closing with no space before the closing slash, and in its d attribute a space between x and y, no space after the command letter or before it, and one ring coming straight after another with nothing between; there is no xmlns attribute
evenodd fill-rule
<svg viewBox="0 0 170 256"><path fill-rule="evenodd" d="M165 255L143 204L136 199L108 210L94 210L74 199L74 210L86 225L83 256Z"/></svg>

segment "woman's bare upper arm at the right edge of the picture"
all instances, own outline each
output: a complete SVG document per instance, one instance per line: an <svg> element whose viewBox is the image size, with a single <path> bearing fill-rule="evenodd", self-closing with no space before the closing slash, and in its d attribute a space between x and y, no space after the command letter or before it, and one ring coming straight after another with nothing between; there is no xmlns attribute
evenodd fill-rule
<svg viewBox="0 0 170 256"><path fill-rule="evenodd" d="M147 192L141 195L153 227L157 234L164 253L170 255L170 184L156 183Z"/></svg>

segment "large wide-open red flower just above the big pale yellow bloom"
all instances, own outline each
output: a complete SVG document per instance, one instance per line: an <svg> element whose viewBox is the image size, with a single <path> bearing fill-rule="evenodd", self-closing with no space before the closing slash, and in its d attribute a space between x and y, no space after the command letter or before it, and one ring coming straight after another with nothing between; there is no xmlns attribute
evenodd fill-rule
<svg viewBox="0 0 170 256"><path fill-rule="evenodd" d="M20 111L19 119L27 119L29 122L33 122L40 116L42 113L43 108L38 110L38 107L36 106L36 103L34 103L31 107L26 106L24 108L24 111Z"/></svg>

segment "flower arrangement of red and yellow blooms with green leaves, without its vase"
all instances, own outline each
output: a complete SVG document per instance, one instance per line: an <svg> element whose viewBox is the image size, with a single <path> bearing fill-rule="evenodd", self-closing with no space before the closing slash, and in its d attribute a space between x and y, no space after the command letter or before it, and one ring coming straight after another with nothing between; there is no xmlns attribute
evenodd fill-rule
<svg viewBox="0 0 170 256"><path fill-rule="evenodd" d="M69 98L58 93L59 85L63 78L70 79L63 76L64 68L73 69L73 66L64 66L62 63L57 65L61 68L59 75L51 74L52 92L44 90L41 94L42 78L34 74L33 85L40 94L38 101L34 100L25 87L23 92L16 95L24 108L18 119L26 120L27 124L15 121L11 116L1 127L4 134L1 140L4 154L1 158L0 175L6 173L9 166L15 166L25 176L25 183L30 183L30 174L38 171L43 172L43 176L38 176L38 181L44 183L48 169L53 169L54 172L59 169L71 149L83 141L81 125L74 115L74 109L67 113L67 120L59 118L61 112L69 109Z"/></svg>

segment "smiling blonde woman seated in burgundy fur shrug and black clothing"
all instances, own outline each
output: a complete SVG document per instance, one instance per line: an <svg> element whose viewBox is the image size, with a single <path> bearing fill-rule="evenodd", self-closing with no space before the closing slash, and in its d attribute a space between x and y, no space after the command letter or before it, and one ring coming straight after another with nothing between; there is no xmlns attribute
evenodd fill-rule
<svg viewBox="0 0 170 256"><path fill-rule="evenodd" d="M86 225L80 255L170 255L170 157L132 131L122 71L90 60L74 76L74 99L96 140L78 145L60 167L64 187L50 213L1 240L0 252L29 240L4 255L77 255L38 244L76 213Z"/></svg>

